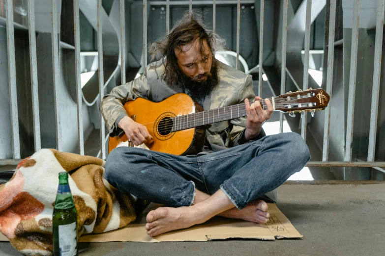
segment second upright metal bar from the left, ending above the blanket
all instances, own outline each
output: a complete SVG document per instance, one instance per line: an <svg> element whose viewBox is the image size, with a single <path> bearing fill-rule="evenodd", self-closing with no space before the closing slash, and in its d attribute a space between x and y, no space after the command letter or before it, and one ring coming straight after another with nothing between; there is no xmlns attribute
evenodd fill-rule
<svg viewBox="0 0 385 256"><path fill-rule="evenodd" d="M41 149L39 92L37 86L36 60L36 31L35 31L35 1L28 0L28 35L30 40L30 73L32 89L33 141L35 152Z"/></svg>

